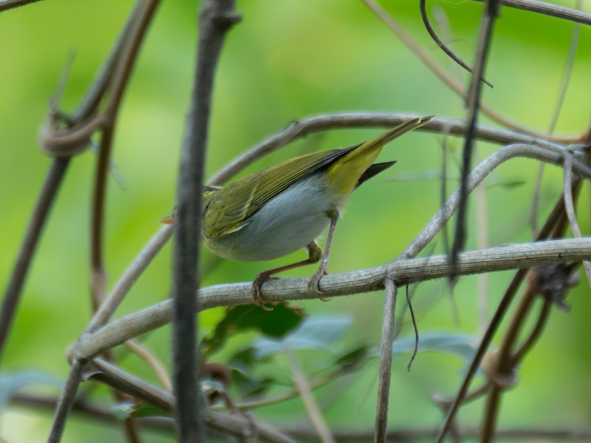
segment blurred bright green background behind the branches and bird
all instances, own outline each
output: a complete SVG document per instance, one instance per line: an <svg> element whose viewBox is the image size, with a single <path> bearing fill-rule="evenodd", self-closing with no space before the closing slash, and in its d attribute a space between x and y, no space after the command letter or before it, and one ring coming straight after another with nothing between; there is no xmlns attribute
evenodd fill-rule
<svg viewBox="0 0 591 443"><path fill-rule="evenodd" d="M415 1L384 1L389 13L430 57L466 84L467 76L430 40L420 22ZM468 63L478 37L482 4L431 2L431 17L443 15L454 50ZM574 2L564 2L573 6ZM174 204L178 151L183 138L191 90L196 41L196 5L163 2L125 94L115 136L113 162L123 184L108 184L105 259L109 287L158 229L158 220ZM69 51L76 50L63 99L66 111L75 108L115 41L131 2L53 0L0 14L0 286L9 274L51 159L37 145L38 128ZM462 100L444 86L411 50L359 1L239 1L243 21L228 35L216 76L210 122L206 172L211 176L236 155L292 120L335 112L411 112L464 118ZM495 27L483 101L509 119L536 131L547 131L556 102L573 25L509 8L502 9ZM582 133L589 124L591 32L583 27L574 70L556 133ZM482 118L486 123L486 119ZM349 146L371 138L377 129L347 129L313 135L269 155L248 171L275 164L310 149ZM388 146L381 159L398 164L369 181L350 199L339 223L330 272L368 268L394 259L420 232L440 206L440 181L411 180L439 174L441 136L411 133ZM450 176L462 141L449 139ZM479 144L477 158L498 146ZM90 202L96 156L76 157L51 212L22 294L22 301L2 359L3 372L34 370L64 380L66 347L86 327L89 302ZM530 240L534 179L538 166L528 159L502 165L486 180L490 245ZM547 167L541 187L543 219L560 195L560 168ZM524 181L519 187L508 184ZM448 181L449 189L456 181ZM589 226L589 193L580 204L583 232ZM470 204L468 248L476 247L475 204ZM437 239L436 252L441 252ZM303 252L272 263L222 262L202 284L251 280L257 272L299 260ZM202 258L215 258L204 251ZM168 297L170 246L154 260L129 293L117 315L155 304ZM301 268L291 275L311 275ZM491 275L487 282L489 308L495 306L511 272ZM478 276L462 278L454 289L459 321L453 314L445 281L420 285L414 308L421 333L429 331L478 334ZM568 313L554 310L545 334L519 372L519 383L502 402L499 424L506 426L589 426L591 339L589 288L571 292ZM311 315L346 314L353 327L343 348L355 344L378 346L383 295L380 293L303 302ZM222 310L200 316L203 331L223 315ZM489 313L490 315L490 313ZM166 364L170 360L169 328L145 338ZM405 334L412 331L407 327ZM236 338L235 349L253 337ZM224 363L230 354L217 357ZM301 354L304 367L314 367L314 353ZM459 386L463 364L441 354L420 354L410 373L407 356L394 361L389 424L392 428L431 428L441 413L433 406L434 392L452 395ZM126 369L153 380L134 357ZM326 418L334 429L370 429L375 419L377 361L347 381L348 389L330 403ZM285 362L267 368L288 382ZM54 392L49 390L48 392ZM330 389L320 390L323 404ZM56 392L57 393L57 392ZM332 394L330 394L332 395ZM106 398L106 397L105 397ZM462 410L460 423L476 425L482 402ZM307 423L299 400L256 411L275 424ZM10 442L43 441L51 414L11 407L0 416L0 437ZM119 441L119 428L83 419L69 421L64 442ZM170 441L163 434L145 434L145 441Z"/></svg>

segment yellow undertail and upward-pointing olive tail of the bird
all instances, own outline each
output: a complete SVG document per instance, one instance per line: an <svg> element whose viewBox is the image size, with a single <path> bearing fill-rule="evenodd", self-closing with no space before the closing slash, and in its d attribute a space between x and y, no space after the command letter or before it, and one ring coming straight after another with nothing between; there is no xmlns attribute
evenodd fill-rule
<svg viewBox="0 0 591 443"><path fill-rule="evenodd" d="M333 198L338 200L347 197L355 189L359 178L378 158L384 145L388 144L402 134L423 126L430 117L417 118L410 122L402 123L391 131L385 132L378 137L363 143L358 148L339 158L330 165L326 171L327 183L333 192ZM336 202L335 202L336 203Z"/></svg>

